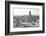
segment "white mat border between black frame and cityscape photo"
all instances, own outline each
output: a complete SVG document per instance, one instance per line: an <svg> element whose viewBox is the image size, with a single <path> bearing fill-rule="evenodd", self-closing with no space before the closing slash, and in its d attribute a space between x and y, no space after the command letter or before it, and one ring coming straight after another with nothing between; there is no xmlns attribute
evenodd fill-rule
<svg viewBox="0 0 46 36"><path fill-rule="evenodd" d="M30 28L13 28L13 8L14 7L28 7L28 8L39 8L39 15L40 15L40 27L30 27ZM20 31L39 31L42 30L42 6L35 6L35 5L17 5L17 4L10 4L10 32L20 32Z"/></svg>

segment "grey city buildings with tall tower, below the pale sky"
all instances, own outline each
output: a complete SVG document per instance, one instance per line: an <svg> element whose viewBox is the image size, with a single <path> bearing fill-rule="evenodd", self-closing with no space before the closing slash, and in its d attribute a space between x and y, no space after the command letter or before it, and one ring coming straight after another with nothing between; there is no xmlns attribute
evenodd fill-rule
<svg viewBox="0 0 46 36"><path fill-rule="evenodd" d="M39 27L39 16L29 15L13 16L14 28Z"/></svg>

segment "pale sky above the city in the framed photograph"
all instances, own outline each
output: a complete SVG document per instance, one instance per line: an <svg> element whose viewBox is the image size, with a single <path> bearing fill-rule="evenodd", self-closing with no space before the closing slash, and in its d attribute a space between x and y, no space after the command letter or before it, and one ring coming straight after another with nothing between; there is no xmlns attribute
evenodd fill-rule
<svg viewBox="0 0 46 36"><path fill-rule="evenodd" d="M29 11L31 11L31 15L38 16L39 15L39 8L14 8L13 15L14 16L23 16L29 15Z"/></svg>

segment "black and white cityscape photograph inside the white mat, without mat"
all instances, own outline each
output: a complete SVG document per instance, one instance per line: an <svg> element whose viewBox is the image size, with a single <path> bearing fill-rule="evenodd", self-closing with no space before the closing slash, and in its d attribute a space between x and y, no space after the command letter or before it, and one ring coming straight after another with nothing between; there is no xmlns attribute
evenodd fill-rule
<svg viewBox="0 0 46 36"><path fill-rule="evenodd" d="M39 8L14 7L13 28L39 27Z"/></svg>

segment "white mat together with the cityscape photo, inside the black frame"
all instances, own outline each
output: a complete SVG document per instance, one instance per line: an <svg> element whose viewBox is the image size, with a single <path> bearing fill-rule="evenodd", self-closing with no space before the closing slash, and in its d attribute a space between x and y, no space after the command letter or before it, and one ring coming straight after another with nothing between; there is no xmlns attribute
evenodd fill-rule
<svg viewBox="0 0 46 36"><path fill-rule="evenodd" d="M41 13L42 6L10 4L10 31L42 30Z"/></svg>

